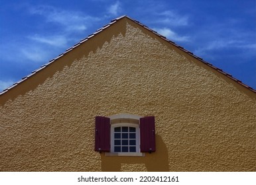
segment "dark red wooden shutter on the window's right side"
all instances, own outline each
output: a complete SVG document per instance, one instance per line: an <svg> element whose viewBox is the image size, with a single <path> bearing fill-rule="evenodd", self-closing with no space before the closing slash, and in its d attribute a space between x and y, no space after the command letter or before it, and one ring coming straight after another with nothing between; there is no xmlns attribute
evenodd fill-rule
<svg viewBox="0 0 256 185"><path fill-rule="evenodd" d="M140 119L141 152L156 151L155 116Z"/></svg>

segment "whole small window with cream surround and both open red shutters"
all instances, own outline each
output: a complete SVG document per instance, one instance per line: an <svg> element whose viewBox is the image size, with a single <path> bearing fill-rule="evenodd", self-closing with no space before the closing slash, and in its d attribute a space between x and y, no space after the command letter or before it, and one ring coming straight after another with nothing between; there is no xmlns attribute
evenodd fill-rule
<svg viewBox="0 0 256 185"><path fill-rule="evenodd" d="M144 156L155 151L155 117L96 116L95 151L113 156Z"/></svg>

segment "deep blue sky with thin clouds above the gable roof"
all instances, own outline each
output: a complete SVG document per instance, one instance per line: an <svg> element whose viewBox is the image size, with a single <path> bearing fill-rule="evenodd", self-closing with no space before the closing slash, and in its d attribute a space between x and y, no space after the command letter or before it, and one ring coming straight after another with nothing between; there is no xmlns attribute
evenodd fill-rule
<svg viewBox="0 0 256 185"><path fill-rule="evenodd" d="M256 89L255 0L1 0L0 91L121 15Z"/></svg>

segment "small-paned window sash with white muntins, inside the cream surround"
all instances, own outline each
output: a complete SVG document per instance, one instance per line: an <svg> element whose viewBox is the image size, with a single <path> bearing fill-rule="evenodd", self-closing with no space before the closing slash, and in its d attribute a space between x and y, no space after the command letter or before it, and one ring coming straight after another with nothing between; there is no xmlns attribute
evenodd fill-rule
<svg viewBox="0 0 256 185"><path fill-rule="evenodd" d="M132 126L118 126L114 128L114 152L136 151L136 128Z"/></svg>

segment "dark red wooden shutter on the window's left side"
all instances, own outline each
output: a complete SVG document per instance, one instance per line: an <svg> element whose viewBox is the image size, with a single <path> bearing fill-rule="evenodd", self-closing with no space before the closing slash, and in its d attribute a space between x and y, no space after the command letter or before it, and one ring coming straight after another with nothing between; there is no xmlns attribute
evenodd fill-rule
<svg viewBox="0 0 256 185"><path fill-rule="evenodd" d="M110 151L110 118L96 116L95 151Z"/></svg>

